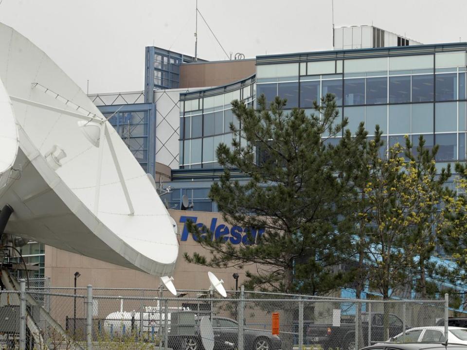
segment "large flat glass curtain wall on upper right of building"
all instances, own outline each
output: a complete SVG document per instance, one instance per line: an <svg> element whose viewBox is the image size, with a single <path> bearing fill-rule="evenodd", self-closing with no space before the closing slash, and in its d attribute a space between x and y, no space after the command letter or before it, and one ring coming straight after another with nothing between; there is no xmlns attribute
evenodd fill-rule
<svg viewBox="0 0 467 350"><path fill-rule="evenodd" d="M416 146L423 135L428 147L439 145L437 161L466 159L465 51L258 65L256 84L257 96L287 98L286 108L308 113L333 93L353 133L363 122L372 137L379 125L385 147L405 135Z"/></svg>

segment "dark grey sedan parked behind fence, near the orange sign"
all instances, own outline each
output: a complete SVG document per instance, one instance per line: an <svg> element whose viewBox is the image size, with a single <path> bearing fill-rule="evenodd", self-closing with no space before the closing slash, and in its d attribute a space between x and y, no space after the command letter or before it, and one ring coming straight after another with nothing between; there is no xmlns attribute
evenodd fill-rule
<svg viewBox="0 0 467 350"><path fill-rule="evenodd" d="M197 318L195 336L169 334L169 347L177 350L204 350L199 336L199 321ZM234 344L236 348L238 339L238 323L226 317L213 317L214 330L214 350L232 349L225 342ZM279 350L282 348L281 339L277 335L272 335L270 331L244 328L244 349L249 350Z"/></svg>

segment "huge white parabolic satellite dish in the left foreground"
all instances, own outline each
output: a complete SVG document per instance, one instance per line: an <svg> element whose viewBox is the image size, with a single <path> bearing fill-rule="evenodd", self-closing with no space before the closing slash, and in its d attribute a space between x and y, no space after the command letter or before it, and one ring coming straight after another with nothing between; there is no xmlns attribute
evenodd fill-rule
<svg viewBox="0 0 467 350"><path fill-rule="evenodd" d="M1 23L0 79L0 209L14 209L5 232L171 275L178 241L149 177L86 94Z"/></svg>

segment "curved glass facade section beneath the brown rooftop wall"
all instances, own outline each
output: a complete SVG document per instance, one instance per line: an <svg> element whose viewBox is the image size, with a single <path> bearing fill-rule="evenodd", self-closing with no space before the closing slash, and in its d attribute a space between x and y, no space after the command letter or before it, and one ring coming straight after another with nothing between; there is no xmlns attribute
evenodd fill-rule
<svg viewBox="0 0 467 350"><path fill-rule="evenodd" d="M180 108L180 169L220 167L217 146L225 143L232 147L230 125L241 127L231 102L253 104L254 78L214 90L180 94L180 98L184 100Z"/></svg>

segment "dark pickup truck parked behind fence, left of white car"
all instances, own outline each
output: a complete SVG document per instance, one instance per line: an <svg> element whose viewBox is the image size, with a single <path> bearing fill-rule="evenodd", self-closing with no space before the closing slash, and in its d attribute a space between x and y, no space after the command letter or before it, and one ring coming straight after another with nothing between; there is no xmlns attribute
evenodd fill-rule
<svg viewBox="0 0 467 350"><path fill-rule="evenodd" d="M361 336L359 346L373 345L374 343L387 341L403 331L402 320L394 314L389 314L389 337L384 336L384 323L382 313L371 314L371 327L368 327L367 313L361 313ZM408 328L407 328L408 329ZM368 335L371 331L371 344L368 344ZM304 321L304 344L321 345L324 350L340 349L355 350L355 316L342 316L340 326L332 324L319 324L312 321Z"/></svg>

